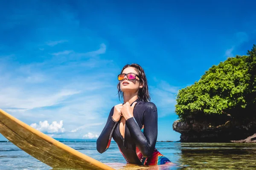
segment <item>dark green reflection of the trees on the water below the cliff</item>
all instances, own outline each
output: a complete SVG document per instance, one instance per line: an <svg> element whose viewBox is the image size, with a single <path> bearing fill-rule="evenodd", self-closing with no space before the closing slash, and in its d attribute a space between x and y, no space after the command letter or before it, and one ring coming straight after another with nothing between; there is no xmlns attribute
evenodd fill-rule
<svg viewBox="0 0 256 170"><path fill-rule="evenodd" d="M182 143L181 169L256 169L256 144Z"/></svg>

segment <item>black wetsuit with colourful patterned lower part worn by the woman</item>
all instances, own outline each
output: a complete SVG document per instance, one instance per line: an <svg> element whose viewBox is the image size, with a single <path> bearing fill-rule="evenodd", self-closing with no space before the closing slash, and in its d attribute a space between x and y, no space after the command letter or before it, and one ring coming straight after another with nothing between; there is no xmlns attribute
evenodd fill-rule
<svg viewBox="0 0 256 170"><path fill-rule="evenodd" d="M125 122L125 137L123 138L119 122L111 119L114 107L111 109L107 123L97 139L97 150L105 152L113 137L119 150L128 163L132 164L166 164L169 159L155 148L157 142L157 107L152 102L143 102L139 99L134 107L134 117ZM131 104L132 105L132 104Z"/></svg>

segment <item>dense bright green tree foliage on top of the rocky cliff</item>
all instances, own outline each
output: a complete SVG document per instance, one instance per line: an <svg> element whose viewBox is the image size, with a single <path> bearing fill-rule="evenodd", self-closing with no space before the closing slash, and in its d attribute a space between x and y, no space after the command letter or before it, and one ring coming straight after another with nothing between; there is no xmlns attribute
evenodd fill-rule
<svg viewBox="0 0 256 170"><path fill-rule="evenodd" d="M198 82L179 90L175 111L189 115L229 114L256 118L256 45L247 56L229 57L213 65Z"/></svg>

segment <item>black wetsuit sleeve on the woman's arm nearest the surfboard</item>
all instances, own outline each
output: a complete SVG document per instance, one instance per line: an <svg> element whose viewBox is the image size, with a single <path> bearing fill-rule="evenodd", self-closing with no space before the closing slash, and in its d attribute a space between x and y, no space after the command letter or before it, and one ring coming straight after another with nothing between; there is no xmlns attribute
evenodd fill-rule
<svg viewBox="0 0 256 170"><path fill-rule="evenodd" d="M103 128L102 133L99 135L99 138L97 139L96 145L99 153L105 152L106 150L108 150L108 147L110 146L112 134L117 125L117 123L114 122L111 118L111 116L113 116L113 111L114 107L111 109L108 115L107 123Z"/></svg>

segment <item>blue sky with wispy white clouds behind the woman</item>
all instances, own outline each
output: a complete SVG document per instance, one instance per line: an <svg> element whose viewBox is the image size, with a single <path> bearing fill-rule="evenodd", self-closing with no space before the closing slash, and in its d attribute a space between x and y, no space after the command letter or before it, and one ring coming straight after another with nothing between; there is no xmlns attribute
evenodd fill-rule
<svg viewBox="0 0 256 170"><path fill-rule="evenodd" d="M0 6L0 108L56 138L96 139L126 64L146 73L158 140L175 95L256 43L256 2L9 0ZM3 140L0 136L0 140Z"/></svg>

